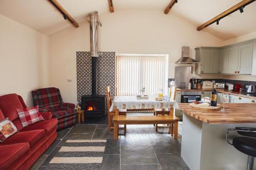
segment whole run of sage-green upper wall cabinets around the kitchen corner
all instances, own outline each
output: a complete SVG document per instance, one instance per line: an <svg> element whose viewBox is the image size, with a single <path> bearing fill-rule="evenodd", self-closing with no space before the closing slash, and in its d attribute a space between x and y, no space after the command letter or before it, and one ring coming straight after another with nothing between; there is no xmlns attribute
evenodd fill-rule
<svg viewBox="0 0 256 170"><path fill-rule="evenodd" d="M197 74L256 75L256 39L223 47L198 47ZM218 64L219 63L219 64Z"/></svg>

